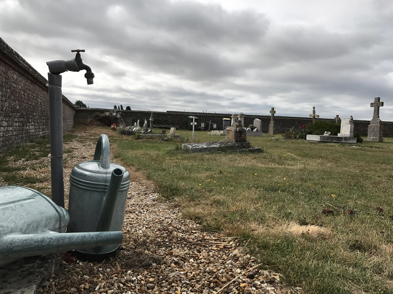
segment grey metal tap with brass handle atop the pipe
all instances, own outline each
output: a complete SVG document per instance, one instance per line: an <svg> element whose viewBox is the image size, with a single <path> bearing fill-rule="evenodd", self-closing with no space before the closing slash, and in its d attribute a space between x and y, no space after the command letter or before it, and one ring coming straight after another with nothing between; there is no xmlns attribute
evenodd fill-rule
<svg viewBox="0 0 393 294"><path fill-rule="evenodd" d="M49 67L49 72L51 74L61 74L64 73L65 71L81 71L85 69L86 73L84 74L84 77L87 80L87 84L92 85L94 73L92 73L92 69L90 68L90 66L82 62L81 53L79 53L79 52L84 52L84 49L71 50L71 52L76 52L74 59L53 60L53 61L46 62L46 64Z"/></svg>

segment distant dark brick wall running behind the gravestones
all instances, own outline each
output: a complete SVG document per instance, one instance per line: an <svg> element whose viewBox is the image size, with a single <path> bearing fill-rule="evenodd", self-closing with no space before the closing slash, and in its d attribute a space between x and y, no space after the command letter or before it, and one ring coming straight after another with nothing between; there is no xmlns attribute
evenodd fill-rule
<svg viewBox="0 0 393 294"><path fill-rule="evenodd" d="M75 120L82 118L95 118L96 113L110 111L111 109L99 109L99 108L81 108L77 109L75 114ZM112 109L113 110L113 109ZM121 113L124 121L128 125L140 120L140 125L143 125L145 118L149 120L151 111L134 111L134 110L121 110L117 111ZM158 112L154 111L154 125L174 125L181 129L187 128L188 116L196 116L198 120L197 127L200 127L201 122L205 122L205 127L207 127L206 122L211 120L212 123L217 123L217 129L222 130L222 118L231 118L229 113L193 113L193 112L183 112L183 111L166 111ZM270 115L252 115L246 114L244 117L244 125L252 125L255 118L262 120L262 131L268 132L268 127L270 123ZM319 118L318 120L328 120L334 122L332 118ZM283 133L288 131L291 127L298 129L301 125L307 125L307 123L312 122L310 117L294 117L294 116L274 116L275 132ZM354 120L354 131L359 134L366 136L368 125L370 121L367 120ZM382 122L384 136L393 137L393 122Z"/></svg>

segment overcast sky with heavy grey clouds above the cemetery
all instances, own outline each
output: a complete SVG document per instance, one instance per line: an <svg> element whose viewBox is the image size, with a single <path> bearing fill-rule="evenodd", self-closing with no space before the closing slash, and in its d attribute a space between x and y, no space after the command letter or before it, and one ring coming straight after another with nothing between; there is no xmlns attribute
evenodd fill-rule
<svg viewBox="0 0 393 294"><path fill-rule="evenodd" d="M393 121L393 1L0 0L0 37L90 107Z"/></svg>

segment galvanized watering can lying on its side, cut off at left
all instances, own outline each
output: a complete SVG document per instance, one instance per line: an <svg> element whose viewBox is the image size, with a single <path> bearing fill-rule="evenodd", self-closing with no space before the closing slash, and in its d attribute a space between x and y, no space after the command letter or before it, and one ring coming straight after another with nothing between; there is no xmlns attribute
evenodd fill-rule
<svg viewBox="0 0 393 294"><path fill-rule="evenodd" d="M0 187L0 267L28 256L99 247L123 239L121 230L64 233L69 220L67 211L38 191Z"/></svg>

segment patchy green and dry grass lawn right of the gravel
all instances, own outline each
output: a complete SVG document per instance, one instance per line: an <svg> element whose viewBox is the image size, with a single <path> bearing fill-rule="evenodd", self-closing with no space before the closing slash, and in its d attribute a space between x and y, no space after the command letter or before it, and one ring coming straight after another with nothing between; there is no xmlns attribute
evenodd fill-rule
<svg viewBox="0 0 393 294"><path fill-rule="evenodd" d="M192 132L176 134L180 141L123 136L116 157L185 217L247 241L304 293L393 293L392 138L343 145L249 136L263 153L187 154L181 145ZM195 132L196 142L224 138Z"/></svg>

